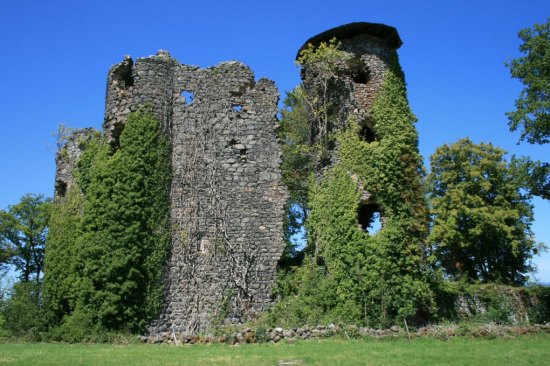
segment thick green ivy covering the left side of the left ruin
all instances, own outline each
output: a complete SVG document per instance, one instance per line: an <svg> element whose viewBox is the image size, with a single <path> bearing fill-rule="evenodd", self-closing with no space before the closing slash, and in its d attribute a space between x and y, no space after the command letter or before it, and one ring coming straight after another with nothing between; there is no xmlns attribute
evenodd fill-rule
<svg viewBox="0 0 550 366"><path fill-rule="evenodd" d="M143 329L163 304L170 241L167 139L158 120L135 112L117 150L101 137L82 147L75 173L81 192L69 192L58 204L51 228L50 302L59 313L103 329ZM64 263L70 265L61 269Z"/></svg>

